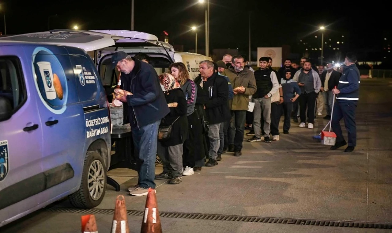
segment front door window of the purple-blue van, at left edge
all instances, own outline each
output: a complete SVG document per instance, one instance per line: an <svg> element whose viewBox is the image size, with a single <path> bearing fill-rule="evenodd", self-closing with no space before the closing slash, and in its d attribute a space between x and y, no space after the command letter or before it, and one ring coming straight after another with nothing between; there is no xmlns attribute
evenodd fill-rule
<svg viewBox="0 0 392 233"><path fill-rule="evenodd" d="M0 57L0 96L10 101L14 111L22 106L27 96L17 57Z"/></svg>

